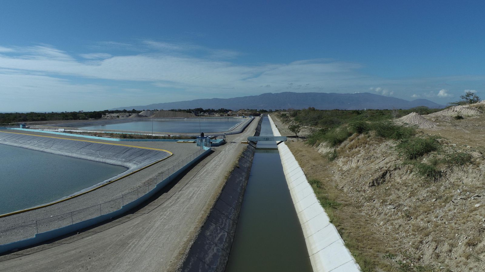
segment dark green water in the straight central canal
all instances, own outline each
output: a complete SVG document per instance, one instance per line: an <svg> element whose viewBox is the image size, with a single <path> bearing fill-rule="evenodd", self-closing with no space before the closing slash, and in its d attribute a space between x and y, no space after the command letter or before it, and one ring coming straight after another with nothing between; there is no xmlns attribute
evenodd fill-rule
<svg viewBox="0 0 485 272"><path fill-rule="evenodd" d="M260 136L273 136L267 117ZM275 142L258 142L226 272L310 272Z"/></svg>

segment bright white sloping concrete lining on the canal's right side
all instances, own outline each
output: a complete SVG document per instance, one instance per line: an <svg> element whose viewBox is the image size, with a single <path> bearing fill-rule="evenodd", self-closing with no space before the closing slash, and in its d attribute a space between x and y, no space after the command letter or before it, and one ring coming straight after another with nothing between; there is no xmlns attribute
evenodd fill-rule
<svg viewBox="0 0 485 272"><path fill-rule="evenodd" d="M269 117L274 136L281 136ZM291 199L303 229L311 266L315 272L360 271L358 264L337 231L330 223L303 169L285 143L278 145L283 172L285 173Z"/></svg>

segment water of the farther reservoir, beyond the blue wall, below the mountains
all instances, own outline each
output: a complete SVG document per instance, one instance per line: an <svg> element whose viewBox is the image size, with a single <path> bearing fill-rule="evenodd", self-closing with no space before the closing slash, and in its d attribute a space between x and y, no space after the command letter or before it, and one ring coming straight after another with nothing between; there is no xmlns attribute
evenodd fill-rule
<svg viewBox="0 0 485 272"><path fill-rule="evenodd" d="M100 123L97 125L76 126L84 129L107 129L107 130L126 130L126 131L152 131L170 133L199 133L199 132L222 132L228 131L241 123L241 120L208 120L208 119L188 119L188 120L137 120L115 123Z"/></svg>

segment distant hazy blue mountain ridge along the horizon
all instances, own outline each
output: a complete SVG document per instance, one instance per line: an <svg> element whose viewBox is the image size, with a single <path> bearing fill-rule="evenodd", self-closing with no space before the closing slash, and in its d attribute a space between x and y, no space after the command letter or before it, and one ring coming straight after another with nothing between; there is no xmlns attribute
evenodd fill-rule
<svg viewBox="0 0 485 272"><path fill-rule="evenodd" d="M443 108L427 99L408 101L396 97L362 93L324 93L324 92L279 92L263 93L260 95L242 96L234 98L195 99L190 101L150 104L146 106L124 106L112 110L123 109L187 109L187 108L228 108L239 109L302 109L315 107L316 109L408 109L416 106Z"/></svg>

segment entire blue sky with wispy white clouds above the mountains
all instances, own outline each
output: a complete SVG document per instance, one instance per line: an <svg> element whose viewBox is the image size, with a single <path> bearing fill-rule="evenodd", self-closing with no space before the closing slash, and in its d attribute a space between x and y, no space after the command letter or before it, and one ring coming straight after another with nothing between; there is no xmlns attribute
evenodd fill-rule
<svg viewBox="0 0 485 272"><path fill-rule="evenodd" d="M265 92L485 96L483 1L5 0L0 112Z"/></svg>

